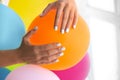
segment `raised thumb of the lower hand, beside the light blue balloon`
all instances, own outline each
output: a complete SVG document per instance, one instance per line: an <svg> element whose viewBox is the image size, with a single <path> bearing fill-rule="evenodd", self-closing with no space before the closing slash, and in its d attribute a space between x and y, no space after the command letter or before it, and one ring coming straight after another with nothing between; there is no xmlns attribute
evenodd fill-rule
<svg viewBox="0 0 120 80"><path fill-rule="evenodd" d="M35 26L30 30L23 38L24 43L30 44L30 37L38 30L38 26Z"/></svg>

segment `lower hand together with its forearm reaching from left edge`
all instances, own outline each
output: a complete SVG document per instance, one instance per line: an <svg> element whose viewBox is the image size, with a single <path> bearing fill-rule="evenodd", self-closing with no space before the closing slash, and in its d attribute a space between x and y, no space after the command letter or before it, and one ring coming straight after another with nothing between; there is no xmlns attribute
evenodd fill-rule
<svg viewBox="0 0 120 80"><path fill-rule="evenodd" d="M65 48L60 43L51 43L34 46L30 37L37 31L37 27L29 31L24 37L21 46L14 50L0 51L0 67L16 64L51 64L58 62Z"/></svg>

